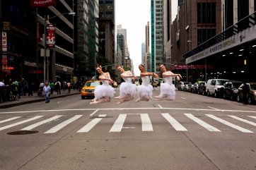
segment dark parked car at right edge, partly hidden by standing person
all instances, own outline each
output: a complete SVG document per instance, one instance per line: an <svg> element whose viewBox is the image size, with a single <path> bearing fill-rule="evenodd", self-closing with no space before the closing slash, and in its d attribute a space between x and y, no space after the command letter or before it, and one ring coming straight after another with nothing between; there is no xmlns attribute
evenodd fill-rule
<svg viewBox="0 0 256 170"><path fill-rule="evenodd" d="M246 83L249 88L248 104L256 102L256 83ZM238 102L243 102L243 84L238 88L238 96L236 98Z"/></svg>

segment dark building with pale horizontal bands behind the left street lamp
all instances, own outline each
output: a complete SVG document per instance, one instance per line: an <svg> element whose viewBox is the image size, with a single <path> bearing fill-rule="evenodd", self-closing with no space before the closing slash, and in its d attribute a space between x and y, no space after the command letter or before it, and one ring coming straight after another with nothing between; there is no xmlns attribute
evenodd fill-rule
<svg viewBox="0 0 256 170"><path fill-rule="evenodd" d="M2 69L1 76L25 78L35 84L56 78L70 80L74 73L74 16L68 13L72 12L73 1L42 7L32 7L28 0L1 1L1 31L7 35L4 58L11 59L9 68L13 68ZM55 36L54 45L44 54L47 24L54 26Z"/></svg>

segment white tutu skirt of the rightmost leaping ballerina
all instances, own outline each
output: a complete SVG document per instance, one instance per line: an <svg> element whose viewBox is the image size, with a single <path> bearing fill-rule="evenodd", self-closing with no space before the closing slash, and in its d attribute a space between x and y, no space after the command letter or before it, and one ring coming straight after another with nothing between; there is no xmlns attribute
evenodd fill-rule
<svg viewBox="0 0 256 170"><path fill-rule="evenodd" d="M168 99L175 99L175 85L168 83L161 83L159 97L167 97Z"/></svg>

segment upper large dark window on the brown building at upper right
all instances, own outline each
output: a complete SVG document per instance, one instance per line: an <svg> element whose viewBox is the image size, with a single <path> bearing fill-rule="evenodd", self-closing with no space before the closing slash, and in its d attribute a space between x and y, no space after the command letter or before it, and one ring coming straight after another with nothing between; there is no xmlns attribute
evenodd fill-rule
<svg viewBox="0 0 256 170"><path fill-rule="evenodd" d="M216 3L197 3L197 23L216 23Z"/></svg>

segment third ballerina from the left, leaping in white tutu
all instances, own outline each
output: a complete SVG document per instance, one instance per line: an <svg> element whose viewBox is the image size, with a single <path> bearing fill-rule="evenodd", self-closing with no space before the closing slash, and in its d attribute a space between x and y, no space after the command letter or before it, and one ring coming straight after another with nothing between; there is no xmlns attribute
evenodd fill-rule
<svg viewBox="0 0 256 170"><path fill-rule="evenodd" d="M139 98L136 99L136 102L146 101L152 98L152 90L153 86L149 85L149 76L153 75L155 78L158 78L156 73L150 73L144 71L144 66L142 64L139 65L139 71L141 71L141 85L138 86L138 95Z"/></svg>

